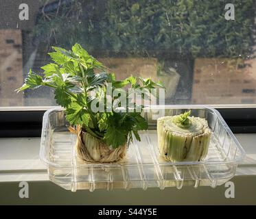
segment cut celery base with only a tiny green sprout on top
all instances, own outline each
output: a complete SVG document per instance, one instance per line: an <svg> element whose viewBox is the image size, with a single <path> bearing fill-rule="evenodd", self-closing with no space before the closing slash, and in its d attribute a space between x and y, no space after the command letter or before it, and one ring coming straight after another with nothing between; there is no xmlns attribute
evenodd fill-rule
<svg viewBox="0 0 256 219"><path fill-rule="evenodd" d="M195 162L207 155L211 136L207 120L185 114L157 120L159 151L167 161Z"/></svg>

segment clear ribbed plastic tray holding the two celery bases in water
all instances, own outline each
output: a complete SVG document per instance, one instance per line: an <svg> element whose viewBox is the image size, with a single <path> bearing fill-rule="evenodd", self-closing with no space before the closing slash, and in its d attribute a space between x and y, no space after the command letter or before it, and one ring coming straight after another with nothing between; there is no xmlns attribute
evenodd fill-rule
<svg viewBox="0 0 256 219"><path fill-rule="evenodd" d="M165 162L159 157L156 118L172 116L191 109L192 116L206 118L213 131L207 157L201 162ZM200 105L157 106L144 112L150 129L141 131L141 142L128 148L124 162L84 164L75 155L76 136L67 130L61 108L48 110L43 117L40 159L47 163L49 179L66 190L113 188L160 188L184 185L216 187L229 181L244 150L218 111Z"/></svg>

